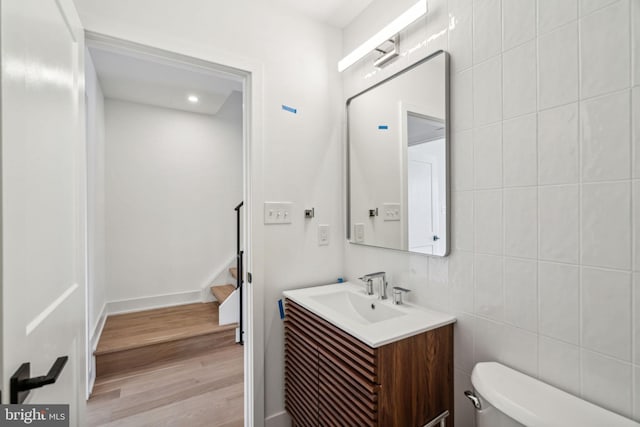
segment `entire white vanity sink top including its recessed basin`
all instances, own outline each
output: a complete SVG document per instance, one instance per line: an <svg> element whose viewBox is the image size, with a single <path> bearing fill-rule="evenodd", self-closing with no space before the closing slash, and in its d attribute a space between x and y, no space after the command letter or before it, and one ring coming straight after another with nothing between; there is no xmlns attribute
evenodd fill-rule
<svg viewBox="0 0 640 427"><path fill-rule="evenodd" d="M393 305L391 297L378 300L366 295L363 285L350 282L286 291L284 296L374 348L456 321L414 304Z"/></svg>

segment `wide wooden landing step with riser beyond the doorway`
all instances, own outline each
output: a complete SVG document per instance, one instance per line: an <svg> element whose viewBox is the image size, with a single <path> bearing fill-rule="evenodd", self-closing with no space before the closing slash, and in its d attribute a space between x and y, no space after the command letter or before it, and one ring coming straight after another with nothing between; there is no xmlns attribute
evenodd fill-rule
<svg viewBox="0 0 640 427"><path fill-rule="evenodd" d="M236 325L218 325L218 305L195 303L109 316L96 376L135 371L235 343Z"/></svg>

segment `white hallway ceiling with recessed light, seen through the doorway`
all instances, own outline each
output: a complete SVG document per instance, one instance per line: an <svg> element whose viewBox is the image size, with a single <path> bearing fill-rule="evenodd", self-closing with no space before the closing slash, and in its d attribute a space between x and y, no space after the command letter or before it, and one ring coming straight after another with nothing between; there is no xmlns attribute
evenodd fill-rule
<svg viewBox="0 0 640 427"><path fill-rule="evenodd" d="M242 82L186 64L89 47L105 98L215 115ZM197 103L188 101L190 95Z"/></svg>

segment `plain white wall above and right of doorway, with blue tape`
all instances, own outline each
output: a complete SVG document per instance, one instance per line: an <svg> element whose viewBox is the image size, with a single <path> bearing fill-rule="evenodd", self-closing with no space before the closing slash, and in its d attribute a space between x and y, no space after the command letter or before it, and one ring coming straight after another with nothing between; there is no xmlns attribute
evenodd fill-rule
<svg viewBox="0 0 640 427"><path fill-rule="evenodd" d="M265 248L264 257L255 260L264 266L254 285L264 289L265 341L265 384L256 387L264 387L266 416L276 415L284 409L277 300L285 289L334 281L343 268L340 31L276 4L249 0L76 0L76 5L90 31L203 59L247 63L260 72L263 84L254 89L263 108L254 119L262 120L255 137L263 151L253 183L258 197L295 202L292 225L253 230ZM283 111L282 104L297 107L299 114ZM263 200L252 201L259 207ZM303 210L311 207L316 217L304 220ZM329 246L317 245L320 223L331 227Z"/></svg>

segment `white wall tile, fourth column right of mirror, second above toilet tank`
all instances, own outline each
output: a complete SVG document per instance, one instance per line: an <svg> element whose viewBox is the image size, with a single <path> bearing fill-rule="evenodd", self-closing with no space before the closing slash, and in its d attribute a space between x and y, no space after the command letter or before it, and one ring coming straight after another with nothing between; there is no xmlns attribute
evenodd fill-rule
<svg viewBox="0 0 640 427"><path fill-rule="evenodd" d="M580 339L580 270L577 266L541 262L538 265L539 331L578 344Z"/></svg>

